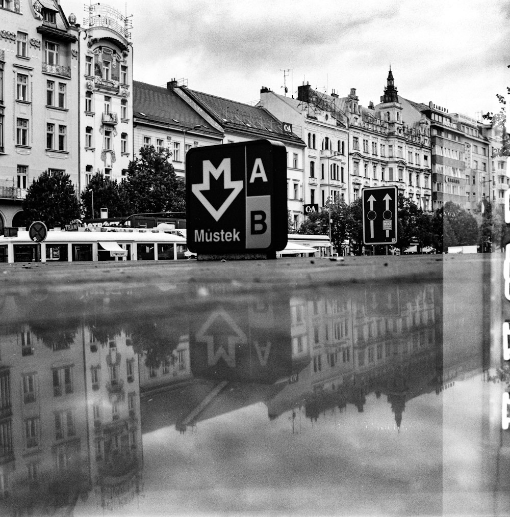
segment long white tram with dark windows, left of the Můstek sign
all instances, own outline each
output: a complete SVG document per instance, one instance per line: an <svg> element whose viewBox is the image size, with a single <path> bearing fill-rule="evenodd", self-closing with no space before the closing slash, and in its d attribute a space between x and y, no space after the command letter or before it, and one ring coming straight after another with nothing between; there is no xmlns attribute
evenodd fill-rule
<svg viewBox="0 0 510 517"><path fill-rule="evenodd" d="M40 244L21 229L12 236L0 236L0 262L159 261L194 256L187 250L184 237L157 228L52 229Z"/></svg>

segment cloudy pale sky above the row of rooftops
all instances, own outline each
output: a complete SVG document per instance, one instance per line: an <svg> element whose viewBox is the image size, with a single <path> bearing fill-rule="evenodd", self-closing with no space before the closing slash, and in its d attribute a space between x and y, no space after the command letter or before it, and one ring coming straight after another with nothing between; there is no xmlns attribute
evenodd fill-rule
<svg viewBox="0 0 510 517"><path fill-rule="evenodd" d="M61 0L77 22L85 5ZM307 82L361 105L399 95L480 118L510 84L510 2L501 0L107 0L133 15L134 79L252 103Z"/></svg>

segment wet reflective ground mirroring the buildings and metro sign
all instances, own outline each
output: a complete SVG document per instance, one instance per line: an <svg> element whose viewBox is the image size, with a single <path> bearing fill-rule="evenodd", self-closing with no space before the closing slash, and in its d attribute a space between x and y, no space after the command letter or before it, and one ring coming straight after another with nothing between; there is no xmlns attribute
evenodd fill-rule
<svg viewBox="0 0 510 517"><path fill-rule="evenodd" d="M4 265L0 514L510 514L503 258Z"/></svg>

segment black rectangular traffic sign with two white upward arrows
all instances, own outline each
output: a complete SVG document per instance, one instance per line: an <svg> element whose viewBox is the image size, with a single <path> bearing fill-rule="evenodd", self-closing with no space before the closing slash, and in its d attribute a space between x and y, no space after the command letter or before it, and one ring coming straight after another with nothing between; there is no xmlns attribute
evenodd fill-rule
<svg viewBox="0 0 510 517"><path fill-rule="evenodd" d="M361 190L363 244L397 243L397 196L396 186Z"/></svg>

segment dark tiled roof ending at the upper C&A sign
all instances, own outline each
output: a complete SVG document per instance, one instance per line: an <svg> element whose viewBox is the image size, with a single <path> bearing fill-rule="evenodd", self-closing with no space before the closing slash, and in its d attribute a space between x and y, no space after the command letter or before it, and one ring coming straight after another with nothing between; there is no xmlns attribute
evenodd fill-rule
<svg viewBox="0 0 510 517"><path fill-rule="evenodd" d="M184 92L198 101L225 129L258 135L260 138L285 140L304 145L304 142L295 134L285 133L282 121L264 108L196 92L188 88L185 88Z"/></svg>

